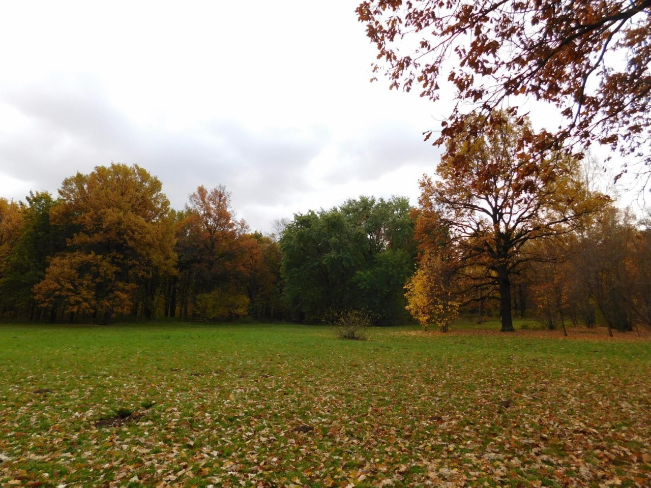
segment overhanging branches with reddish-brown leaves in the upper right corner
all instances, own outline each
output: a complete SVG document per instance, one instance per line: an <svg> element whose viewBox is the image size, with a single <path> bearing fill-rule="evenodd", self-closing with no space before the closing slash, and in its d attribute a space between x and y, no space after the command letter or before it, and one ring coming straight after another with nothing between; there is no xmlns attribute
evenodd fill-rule
<svg viewBox="0 0 651 488"><path fill-rule="evenodd" d="M649 171L650 0L368 0L357 14L391 88L420 87L436 101L441 85L454 86L458 103L438 144L458 139L466 103L488 115L531 97L565 120L538 135L536 151L596 140Z"/></svg>

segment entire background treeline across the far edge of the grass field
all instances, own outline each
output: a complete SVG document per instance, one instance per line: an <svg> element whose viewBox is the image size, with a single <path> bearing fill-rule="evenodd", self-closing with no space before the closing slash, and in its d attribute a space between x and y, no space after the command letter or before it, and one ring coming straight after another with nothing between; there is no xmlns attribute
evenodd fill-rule
<svg viewBox="0 0 651 488"><path fill-rule="evenodd" d="M473 146L464 165L444 160L417 208L359 197L270 235L236 219L223 186L171 209L137 166L76 174L56 198L0 198L0 318L317 323L355 308L376 325L443 331L460 315L501 317L503 330L512 315L549 329L651 326L649 222L588 191L578 161L548 159L553 179L544 162L522 174L518 158L487 156L505 154L493 143L474 163Z"/></svg>

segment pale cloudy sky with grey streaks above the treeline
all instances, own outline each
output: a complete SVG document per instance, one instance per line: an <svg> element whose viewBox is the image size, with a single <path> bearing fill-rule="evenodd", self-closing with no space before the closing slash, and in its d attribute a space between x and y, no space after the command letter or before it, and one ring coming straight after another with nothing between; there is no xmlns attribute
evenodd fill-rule
<svg viewBox="0 0 651 488"><path fill-rule="evenodd" d="M270 231L433 172L443 109L369 83L357 0L5 3L0 196L56 195L97 165L137 164L174 208L223 184Z"/></svg>

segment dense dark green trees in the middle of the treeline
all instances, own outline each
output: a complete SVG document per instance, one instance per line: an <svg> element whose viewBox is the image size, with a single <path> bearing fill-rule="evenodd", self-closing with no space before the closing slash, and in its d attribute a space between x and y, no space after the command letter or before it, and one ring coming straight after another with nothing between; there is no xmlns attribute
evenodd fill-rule
<svg viewBox="0 0 651 488"><path fill-rule="evenodd" d="M403 286L413 267L406 198L360 197L294 216L280 241L285 295L294 318L365 308L378 325L408 320Z"/></svg>

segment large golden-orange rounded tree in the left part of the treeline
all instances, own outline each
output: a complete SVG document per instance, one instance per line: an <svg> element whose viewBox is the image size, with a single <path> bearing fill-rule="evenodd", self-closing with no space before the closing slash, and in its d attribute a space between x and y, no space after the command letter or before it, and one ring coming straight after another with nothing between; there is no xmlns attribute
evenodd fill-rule
<svg viewBox="0 0 651 488"><path fill-rule="evenodd" d="M70 314L150 316L158 274L174 273L173 222L161 182L137 165L112 163L66 178L51 221L66 250L51 259L35 298Z"/></svg>

